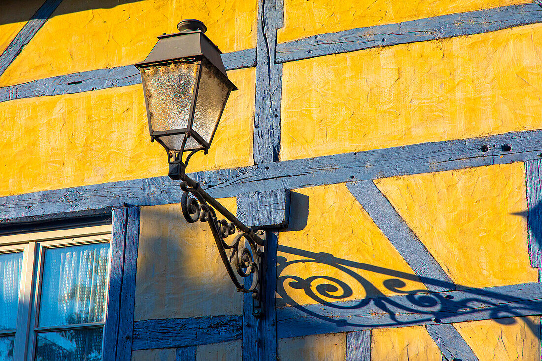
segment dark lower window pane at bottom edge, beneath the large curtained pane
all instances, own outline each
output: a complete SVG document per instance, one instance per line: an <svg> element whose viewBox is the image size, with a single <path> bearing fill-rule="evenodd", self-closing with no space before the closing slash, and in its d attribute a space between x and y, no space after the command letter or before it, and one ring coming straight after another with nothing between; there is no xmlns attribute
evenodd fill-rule
<svg viewBox="0 0 542 361"><path fill-rule="evenodd" d="M44 332L37 335L37 361L98 361L104 328Z"/></svg>

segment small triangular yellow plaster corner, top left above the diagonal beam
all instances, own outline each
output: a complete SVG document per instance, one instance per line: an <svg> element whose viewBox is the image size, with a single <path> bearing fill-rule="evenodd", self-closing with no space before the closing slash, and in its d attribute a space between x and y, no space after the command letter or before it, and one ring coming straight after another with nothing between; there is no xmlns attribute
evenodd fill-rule
<svg viewBox="0 0 542 361"><path fill-rule="evenodd" d="M43 0L2 0L0 3L0 54L9 46L24 24L43 5Z"/></svg>

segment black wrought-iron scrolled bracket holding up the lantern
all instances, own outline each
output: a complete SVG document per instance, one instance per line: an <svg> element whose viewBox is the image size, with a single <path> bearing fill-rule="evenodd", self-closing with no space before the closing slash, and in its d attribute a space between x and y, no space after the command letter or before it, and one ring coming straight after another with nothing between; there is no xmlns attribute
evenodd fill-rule
<svg viewBox="0 0 542 361"><path fill-rule="evenodd" d="M259 246L263 246L263 241L251 228L242 224L228 211L223 212L223 214L225 217L231 218L229 219L231 222L219 220L214 208L210 207L208 201L212 200L215 205L220 204L202 190L197 182L192 181L192 183L193 186L190 186L186 181L180 184L180 188L183 190L181 208L184 218L189 223L197 221L209 223L218 253L220 253L231 281L238 291L252 293L255 305L254 313L258 314L260 311L262 256ZM235 234L236 229L240 230L241 233L235 236L232 243L226 242L225 238ZM228 250L229 255L227 254ZM250 275L252 275L252 282L247 287L244 285L243 280Z"/></svg>

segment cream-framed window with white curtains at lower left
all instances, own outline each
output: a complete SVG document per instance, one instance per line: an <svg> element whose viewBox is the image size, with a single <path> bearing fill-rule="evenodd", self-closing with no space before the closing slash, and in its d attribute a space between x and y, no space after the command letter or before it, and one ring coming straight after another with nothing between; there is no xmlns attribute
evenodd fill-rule
<svg viewBox="0 0 542 361"><path fill-rule="evenodd" d="M0 360L102 359L111 225L0 237Z"/></svg>

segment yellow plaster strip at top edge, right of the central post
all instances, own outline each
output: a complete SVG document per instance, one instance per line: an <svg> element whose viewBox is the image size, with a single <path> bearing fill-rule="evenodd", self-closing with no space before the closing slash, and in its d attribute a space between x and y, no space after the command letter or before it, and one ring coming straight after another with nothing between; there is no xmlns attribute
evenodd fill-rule
<svg viewBox="0 0 542 361"><path fill-rule="evenodd" d="M455 12L475 11L531 0L285 0L279 42L378 24L398 23Z"/></svg>

